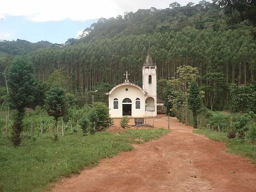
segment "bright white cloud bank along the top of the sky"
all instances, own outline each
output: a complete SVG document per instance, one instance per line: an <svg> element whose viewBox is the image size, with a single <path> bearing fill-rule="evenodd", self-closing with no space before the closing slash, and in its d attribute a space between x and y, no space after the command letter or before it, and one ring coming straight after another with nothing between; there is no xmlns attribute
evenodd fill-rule
<svg viewBox="0 0 256 192"><path fill-rule="evenodd" d="M177 0L187 4L191 0ZM198 1L197 1L198 2ZM150 7L169 7L170 0L2 0L0 17L25 16L35 22L58 20L88 20L100 17L116 17L124 12Z"/></svg>

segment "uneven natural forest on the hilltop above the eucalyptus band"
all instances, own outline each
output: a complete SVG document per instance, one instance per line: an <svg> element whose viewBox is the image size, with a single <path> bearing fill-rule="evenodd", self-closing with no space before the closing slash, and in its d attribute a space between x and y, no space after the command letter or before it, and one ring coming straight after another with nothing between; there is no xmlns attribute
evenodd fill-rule
<svg viewBox="0 0 256 192"><path fill-rule="evenodd" d="M140 35L170 30L180 31L184 28L225 30L229 28L225 20L225 16L216 4L203 0L196 5L190 2L181 6L173 2L165 9L151 7L139 9L137 12L125 12L123 16L118 15L116 18L100 18L97 23L84 30L78 42L88 42L95 36ZM70 41L70 43L76 42Z"/></svg>

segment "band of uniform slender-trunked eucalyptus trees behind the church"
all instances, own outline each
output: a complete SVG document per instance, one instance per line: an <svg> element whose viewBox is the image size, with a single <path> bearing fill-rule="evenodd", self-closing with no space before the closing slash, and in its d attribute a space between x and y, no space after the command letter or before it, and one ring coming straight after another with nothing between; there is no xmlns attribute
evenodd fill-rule
<svg viewBox="0 0 256 192"><path fill-rule="evenodd" d="M197 67L201 76L199 86L205 86L204 105L207 107L221 108L227 105L228 89L224 89L225 86L221 84L240 85L255 81L256 45L245 30L217 32L192 29L152 35L95 37L93 42L87 44L37 50L30 53L29 58L36 66L37 79L42 82L50 77L55 61L61 60L65 67L61 75L66 78L61 85L82 95L86 87L88 90L97 89L99 82L112 85L122 83L126 70L131 74L130 82L141 85L141 67L149 39L152 42L152 56L158 67L158 80L176 77L175 72L180 65ZM222 89L214 87L216 75L212 73L220 73L223 77L224 82L217 81L217 88Z"/></svg>

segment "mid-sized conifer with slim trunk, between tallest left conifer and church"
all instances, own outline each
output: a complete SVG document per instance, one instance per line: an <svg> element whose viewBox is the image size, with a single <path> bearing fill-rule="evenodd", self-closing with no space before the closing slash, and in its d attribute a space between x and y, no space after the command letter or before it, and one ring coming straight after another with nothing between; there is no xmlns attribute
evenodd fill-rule
<svg viewBox="0 0 256 192"><path fill-rule="evenodd" d="M45 109L49 116L55 118L55 141L58 140L57 126L58 118L65 115L66 111L66 96L65 90L58 87L57 84L53 85L49 91L46 92L46 98L44 99Z"/></svg>

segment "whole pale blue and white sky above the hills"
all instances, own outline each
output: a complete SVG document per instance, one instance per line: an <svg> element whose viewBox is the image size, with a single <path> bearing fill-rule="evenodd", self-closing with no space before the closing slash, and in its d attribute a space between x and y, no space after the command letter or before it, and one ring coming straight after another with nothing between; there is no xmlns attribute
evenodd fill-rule
<svg viewBox="0 0 256 192"><path fill-rule="evenodd" d="M174 1L186 5L200 0L1 0L0 39L64 43L101 17L116 18L150 7L164 9Z"/></svg>

